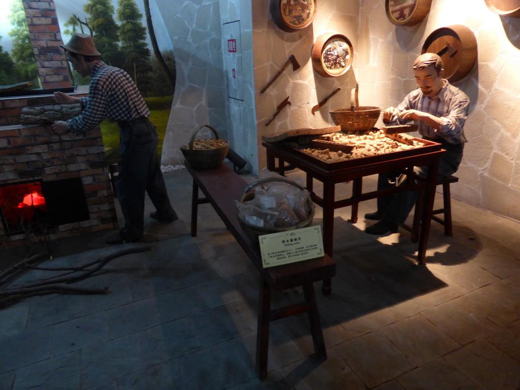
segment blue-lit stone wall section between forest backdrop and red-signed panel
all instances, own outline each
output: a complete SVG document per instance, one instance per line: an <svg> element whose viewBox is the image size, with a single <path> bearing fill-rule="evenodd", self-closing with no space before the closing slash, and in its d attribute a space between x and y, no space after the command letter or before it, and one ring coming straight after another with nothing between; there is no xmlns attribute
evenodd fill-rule
<svg viewBox="0 0 520 390"><path fill-rule="evenodd" d="M177 84L164 137L162 165L184 163L180 146L199 127L226 139L226 77L219 0L156 0L173 44ZM201 132L209 132L204 127ZM208 133L207 137L213 137Z"/></svg>

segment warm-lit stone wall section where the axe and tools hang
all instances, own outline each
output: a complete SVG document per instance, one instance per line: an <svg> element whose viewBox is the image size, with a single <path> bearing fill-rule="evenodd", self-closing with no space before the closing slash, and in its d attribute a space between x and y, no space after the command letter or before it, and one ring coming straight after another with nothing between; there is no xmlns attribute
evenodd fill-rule
<svg viewBox="0 0 520 390"><path fill-rule="evenodd" d="M354 47L354 62L359 53L358 15L359 0L319 0L312 25L296 32L284 32L272 21L269 12L270 0L252 0L253 7L253 53L255 67L256 129L258 165L266 165L262 135L281 133L288 129L320 128L334 125L329 111L350 107L350 90L356 85L353 70L339 77L323 77L314 71L311 63L311 48L315 38L323 33L337 32L345 35ZM300 69L287 68L266 92L260 90L294 55ZM313 115L311 108L337 87L341 90L326 105ZM285 107L269 126L266 122L274 115L277 106L289 96L291 106ZM361 106L371 106L360 95Z"/></svg>

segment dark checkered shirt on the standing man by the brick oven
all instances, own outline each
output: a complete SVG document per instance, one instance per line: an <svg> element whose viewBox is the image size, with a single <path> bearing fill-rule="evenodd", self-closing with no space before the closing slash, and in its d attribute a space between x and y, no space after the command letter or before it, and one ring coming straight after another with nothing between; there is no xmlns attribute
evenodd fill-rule
<svg viewBox="0 0 520 390"><path fill-rule="evenodd" d="M84 134L106 118L131 121L150 116L137 86L124 70L99 61L90 77L88 97L81 98L83 111L67 121L72 133Z"/></svg>

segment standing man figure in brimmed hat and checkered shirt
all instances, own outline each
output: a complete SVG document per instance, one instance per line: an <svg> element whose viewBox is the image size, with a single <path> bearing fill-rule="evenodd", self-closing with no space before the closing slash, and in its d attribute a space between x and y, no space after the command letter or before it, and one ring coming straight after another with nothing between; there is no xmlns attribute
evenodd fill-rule
<svg viewBox="0 0 520 390"><path fill-rule="evenodd" d="M119 174L115 188L125 219L125 226L107 243L138 241L144 233L145 191L157 211L150 214L160 222L178 217L166 192L160 161L157 158L157 129L150 122L150 110L123 70L101 61L90 35L75 33L65 50L67 60L83 77L90 75L88 97L54 94L58 103L81 103L83 111L67 122L57 121L57 134L84 134L106 118L118 121L120 129Z"/></svg>

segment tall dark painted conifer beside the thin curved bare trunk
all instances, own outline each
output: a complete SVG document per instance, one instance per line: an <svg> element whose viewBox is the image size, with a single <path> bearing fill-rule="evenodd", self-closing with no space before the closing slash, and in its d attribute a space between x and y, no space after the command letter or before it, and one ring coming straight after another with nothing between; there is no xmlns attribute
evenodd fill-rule
<svg viewBox="0 0 520 390"><path fill-rule="evenodd" d="M141 23L142 14L134 0L119 0L117 18L121 22L119 38L124 68L140 87L150 71L150 49L146 44L146 28Z"/></svg>

